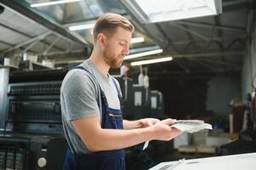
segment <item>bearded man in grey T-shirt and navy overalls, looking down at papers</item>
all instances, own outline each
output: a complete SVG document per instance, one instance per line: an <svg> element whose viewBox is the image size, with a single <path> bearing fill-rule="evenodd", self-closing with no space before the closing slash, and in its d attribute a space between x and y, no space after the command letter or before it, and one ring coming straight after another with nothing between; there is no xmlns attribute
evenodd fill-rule
<svg viewBox="0 0 256 170"><path fill-rule="evenodd" d="M119 83L108 74L129 54L134 27L119 14L102 14L93 29L95 46L67 73L61 86L61 112L70 150L63 169L124 170L124 148L182 133L172 119L122 119Z"/></svg>

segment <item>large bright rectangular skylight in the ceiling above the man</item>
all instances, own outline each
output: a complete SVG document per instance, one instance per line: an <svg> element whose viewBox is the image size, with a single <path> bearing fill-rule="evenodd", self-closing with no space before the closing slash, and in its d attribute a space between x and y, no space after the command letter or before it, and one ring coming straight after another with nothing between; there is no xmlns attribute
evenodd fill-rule
<svg viewBox="0 0 256 170"><path fill-rule="evenodd" d="M184 20L222 13L221 0L119 0L142 23Z"/></svg>

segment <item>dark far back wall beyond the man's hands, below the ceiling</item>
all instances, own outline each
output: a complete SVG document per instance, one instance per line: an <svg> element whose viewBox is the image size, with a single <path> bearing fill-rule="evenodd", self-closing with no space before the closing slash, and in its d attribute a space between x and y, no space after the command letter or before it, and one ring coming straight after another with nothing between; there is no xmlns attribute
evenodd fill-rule
<svg viewBox="0 0 256 170"><path fill-rule="evenodd" d="M241 99L241 78L218 76L203 79L151 80L165 99L165 113L178 119L217 116L224 119L232 111L231 99Z"/></svg>

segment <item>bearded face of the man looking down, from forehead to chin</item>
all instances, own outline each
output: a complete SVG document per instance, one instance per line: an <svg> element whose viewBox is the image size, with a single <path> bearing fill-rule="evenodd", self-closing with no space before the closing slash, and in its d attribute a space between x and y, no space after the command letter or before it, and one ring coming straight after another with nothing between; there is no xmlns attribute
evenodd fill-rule
<svg viewBox="0 0 256 170"><path fill-rule="evenodd" d="M111 68L119 68L126 54L129 54L131 31L117 27L116 31L106 37L103 48L103 59Z"/></svg>

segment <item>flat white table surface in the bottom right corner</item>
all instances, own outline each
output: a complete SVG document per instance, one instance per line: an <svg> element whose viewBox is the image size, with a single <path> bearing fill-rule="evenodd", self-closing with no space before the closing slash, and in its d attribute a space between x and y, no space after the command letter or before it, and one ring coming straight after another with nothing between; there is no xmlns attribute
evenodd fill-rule
<svg viewBox="0 0 256 170"><path fill-rule="evenodd" d="M166 161L149 170L255 170L256 153Z"/></svg>

